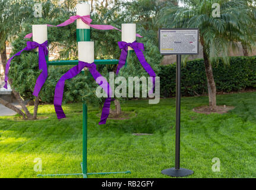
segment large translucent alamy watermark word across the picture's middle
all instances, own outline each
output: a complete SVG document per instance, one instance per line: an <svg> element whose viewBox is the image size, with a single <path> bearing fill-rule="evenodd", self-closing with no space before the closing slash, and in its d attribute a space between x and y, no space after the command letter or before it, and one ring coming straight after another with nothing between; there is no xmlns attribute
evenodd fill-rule
<svg viewBox="0 0 256 190"><path fill-rule="evenodd" d="M105 77L98 77L96 83L103 83L107 81ZM114 72L109 72L109 85L112 90L111 97L127 97L127 88L128 88L128 97L150 97L148 100L149 104L157 104L160 100L160 77L155 77L155 87L154 92L151 91L153 87L153 77L116 77ZM106 83L106 82L105 82ZM115 84L119 84L115 87ZM141 89L141 90L140 90ZM141 94L140 94L141 91ZM108 95L103 91L102 87L97 87L96 89L97 97L108 97Z"/></svg>

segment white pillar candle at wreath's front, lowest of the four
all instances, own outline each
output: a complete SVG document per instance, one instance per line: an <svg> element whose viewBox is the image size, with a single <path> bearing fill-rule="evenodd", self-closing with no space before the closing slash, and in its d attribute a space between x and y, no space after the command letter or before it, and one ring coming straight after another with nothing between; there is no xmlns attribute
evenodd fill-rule
<svg viewBox="0 0 256 190"><path fill-rule="evenodd" d="M78 42L78 60L89 64L94 62L94 42Z"/></svg>

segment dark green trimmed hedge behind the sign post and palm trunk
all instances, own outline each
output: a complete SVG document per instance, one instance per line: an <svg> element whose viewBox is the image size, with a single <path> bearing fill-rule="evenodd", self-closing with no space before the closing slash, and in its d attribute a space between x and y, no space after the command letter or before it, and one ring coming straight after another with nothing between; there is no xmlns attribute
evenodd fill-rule
<svg viewBox="0 0 256 190"><path fill-rule="evenodd" d="M176 63L162 65L160 77L160 94L173 97L176 93ZM225 65L221 60L213 64L213 76L218 92L230 92L256 88L256 56L231 57L230 64ZM181 68L182 96L207 94L207 79L204 60L189 61Z"/></svg>

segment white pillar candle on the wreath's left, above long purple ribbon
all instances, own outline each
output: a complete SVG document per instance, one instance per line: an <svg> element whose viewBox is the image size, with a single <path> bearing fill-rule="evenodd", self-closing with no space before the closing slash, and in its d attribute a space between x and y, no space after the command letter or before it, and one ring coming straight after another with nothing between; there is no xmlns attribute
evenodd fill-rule
<svg viewBox="0 0 256 190"><path fill-rule="evenodd" d="M47 24L32 25L33 41L42 44L48 39ZM38 47L35 49L38 52Z"/></svg>

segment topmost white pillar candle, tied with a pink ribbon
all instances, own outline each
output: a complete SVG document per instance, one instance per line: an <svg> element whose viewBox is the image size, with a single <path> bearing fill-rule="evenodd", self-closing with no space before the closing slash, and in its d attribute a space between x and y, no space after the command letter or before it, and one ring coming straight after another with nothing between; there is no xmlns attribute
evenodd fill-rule
<svg viewBox="0 0 256 190"><path fill-rule="evenodd" d="M90 15L90 4L77 4L77 15ZM77 29L90 29L90 26L85 24L81 18L77 19Z"/></svg>

